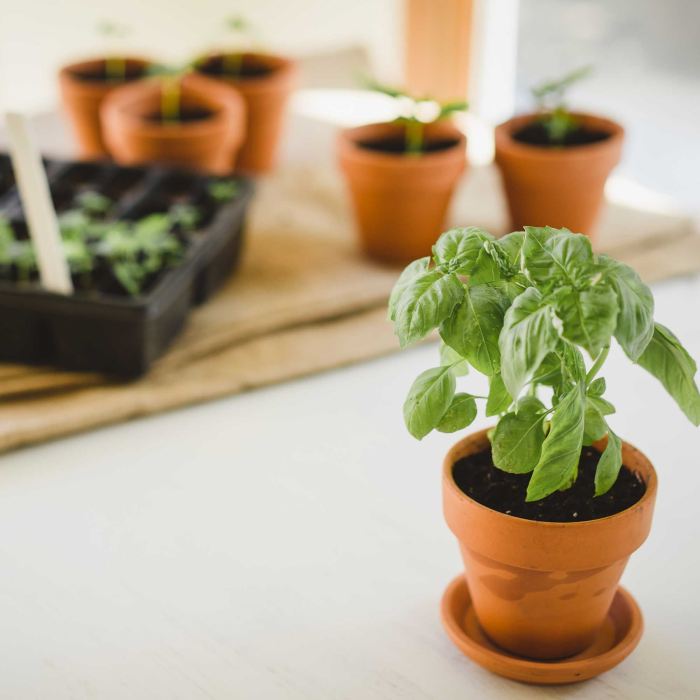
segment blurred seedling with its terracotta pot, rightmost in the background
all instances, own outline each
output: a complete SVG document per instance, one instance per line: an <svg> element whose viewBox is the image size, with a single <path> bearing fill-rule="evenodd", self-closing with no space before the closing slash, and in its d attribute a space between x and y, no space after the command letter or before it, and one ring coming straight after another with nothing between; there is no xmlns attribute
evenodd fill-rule
<svg viewBox="0 0 700 700"><path fill-rule="evenodd" d="M496 165L512 229L569 226L595 235L605 181L624 131L610 119L569 111L566 93L590 74L581 68L532 89L537 112L496 127Z"/></svg>

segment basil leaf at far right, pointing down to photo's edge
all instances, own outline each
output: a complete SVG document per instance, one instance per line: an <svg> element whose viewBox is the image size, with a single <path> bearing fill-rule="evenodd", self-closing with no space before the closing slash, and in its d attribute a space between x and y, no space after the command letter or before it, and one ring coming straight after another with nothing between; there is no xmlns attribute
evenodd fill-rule
<svg viewBox="0 0 700 700"><path fill-rule="evenodd" d="M697 365L668 328L654 324L654 335L637 363L664 385L693 425L700 425Z"/></svg>

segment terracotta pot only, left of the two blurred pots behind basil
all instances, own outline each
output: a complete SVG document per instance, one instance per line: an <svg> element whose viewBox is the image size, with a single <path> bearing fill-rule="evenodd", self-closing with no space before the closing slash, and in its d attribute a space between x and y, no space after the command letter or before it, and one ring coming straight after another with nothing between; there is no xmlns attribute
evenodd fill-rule
<svg viewBox="0 0 700 700"><path fill-rule="evenodd" d="M467 162L464 134L447 122L426 125L427 143L450 144L440 150L415 156L363 145L402 140L403 134L399 124L370 124L343 130L338 139L340 167L365 252L402 264L430 253Z"/></svg>

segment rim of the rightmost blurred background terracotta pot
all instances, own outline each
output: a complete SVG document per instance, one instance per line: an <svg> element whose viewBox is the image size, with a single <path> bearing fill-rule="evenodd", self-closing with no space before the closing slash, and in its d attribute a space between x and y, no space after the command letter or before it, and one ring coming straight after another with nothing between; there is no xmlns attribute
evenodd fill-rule
<svg viewBox="0 0 700 700"><path fill-rule="evenodd" d="M522 143L513 138L513 133L519 128L537 119L538 112L528 112L526 114L518 114L499 124L494 131L496 149L505 151L508 150L514 154L527 155L529 157L536 156L543 160L560 160L562 158L586 158L600 151L620 146L625 137L625 129L618 122L597 114L589 114L587 112L571 112L571 115L578 119L583 125L588 125L607 131L610 135L603 141L594 143L586 143L578 146L568 146L561 149L546 148L544 146L536 146L534 144Z"/></svg>

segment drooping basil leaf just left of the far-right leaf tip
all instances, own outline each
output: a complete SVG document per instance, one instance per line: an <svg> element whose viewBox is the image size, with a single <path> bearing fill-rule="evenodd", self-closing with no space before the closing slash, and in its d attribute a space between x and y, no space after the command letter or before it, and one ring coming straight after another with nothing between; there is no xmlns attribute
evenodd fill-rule
<svg viewBox="0 0 700 700"><path fill-rule="evenodd" d="M607 255L598 258L615 290L620 313L615 338L632 360L636 360L654 335L654 297L649 287L628 265Z"/></svg>

